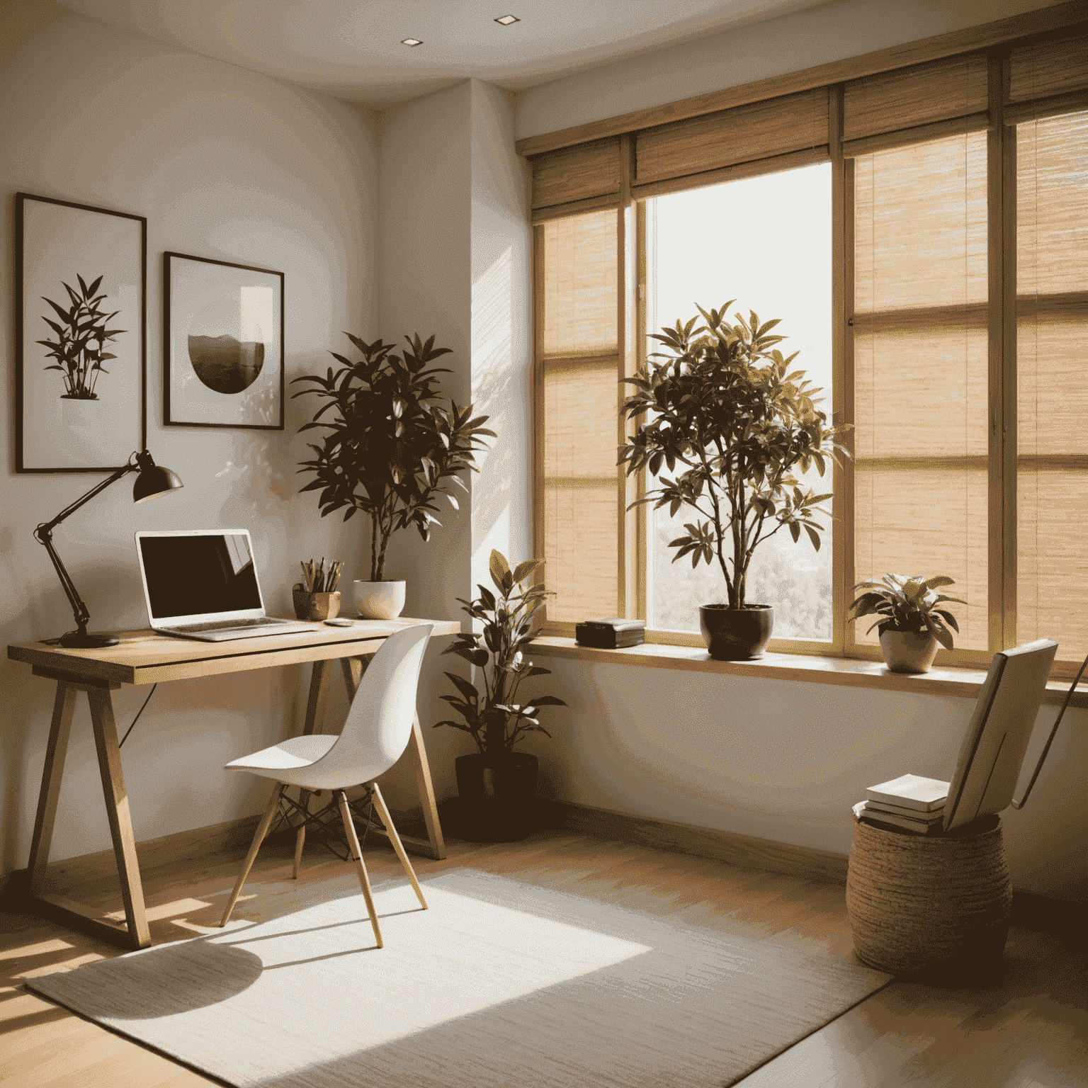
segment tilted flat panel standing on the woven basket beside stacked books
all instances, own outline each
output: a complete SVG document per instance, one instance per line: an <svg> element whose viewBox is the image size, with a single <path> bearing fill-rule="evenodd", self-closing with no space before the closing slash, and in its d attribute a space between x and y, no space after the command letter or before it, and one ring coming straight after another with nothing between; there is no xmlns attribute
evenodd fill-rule
<svg viewBox="0 0 1088 1088"><path fill-rule="evenodd" d="M1056 642L1040 639L993 655L960 746L945 831L1012 804L1056 650Z"/></svg>

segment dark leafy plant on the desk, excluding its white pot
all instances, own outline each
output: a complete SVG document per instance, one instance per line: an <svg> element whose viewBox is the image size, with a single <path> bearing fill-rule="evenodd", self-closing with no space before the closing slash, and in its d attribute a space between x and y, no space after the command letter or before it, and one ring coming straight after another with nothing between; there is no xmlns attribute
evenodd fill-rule
<svg viewBox="0 0 1088 1088"><path fill-rule="evenodd" d="M438 374L448 367L429 367L449 348L434 347L434 337L422 343L417 334L405 337L408 347L400 355L395 345L381 339L367 344L345 333L359 349L361 359L351 362L331 351L339 363L329 373L296 378L310 382L310 394L324 404L299 433L323 429L320 446L310 444L313 458L301 461L300 472L313 480L301 491L320 491L321 516L345 510L344 520L357 511L370 515L370 580L380 582L385 573L385 551L398 529L415 526L423 540L435 517L438 495L457 509L450 485L468 490L460 479L477 471L474 450L484 448L483 436L495 437L481 424L486 416L472 418L472 406L454 400L445 408L438 403Z"/></svg>

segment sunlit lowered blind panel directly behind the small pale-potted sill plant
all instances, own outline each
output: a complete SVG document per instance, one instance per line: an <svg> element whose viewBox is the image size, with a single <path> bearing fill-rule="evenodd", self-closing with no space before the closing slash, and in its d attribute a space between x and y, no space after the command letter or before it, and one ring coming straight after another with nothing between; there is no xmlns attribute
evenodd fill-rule
<svg viewBox="0 0 1088 1088"><path fill-rule="evenodd" d="M986 168L985 133L858 158L853 285L856 580L954 578L956 648L982 651Z"/></svg>

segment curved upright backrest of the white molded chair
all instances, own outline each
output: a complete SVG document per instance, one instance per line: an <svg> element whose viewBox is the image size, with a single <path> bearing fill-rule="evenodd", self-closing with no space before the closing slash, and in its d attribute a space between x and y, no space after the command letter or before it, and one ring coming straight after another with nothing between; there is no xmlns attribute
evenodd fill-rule
<svg viewBox="0 0 1088 1088"><path fill-rule="evenodd" d="M329 789L368 782L400 758L416 717L416 690L433 630L418 623L390 635L359 681L336 743L313 771Z"/></svg>

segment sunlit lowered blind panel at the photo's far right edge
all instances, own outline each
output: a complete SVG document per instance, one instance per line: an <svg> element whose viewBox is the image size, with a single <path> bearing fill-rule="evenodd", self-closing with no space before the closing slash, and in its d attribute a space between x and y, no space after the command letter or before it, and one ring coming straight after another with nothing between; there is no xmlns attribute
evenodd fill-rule
<svg viewBox="0 0 1088 1088"><path fill-rule="evenodd" d="M1088 112L1016 128L1016 632L1088 653Z"/></svg>

